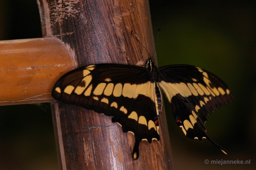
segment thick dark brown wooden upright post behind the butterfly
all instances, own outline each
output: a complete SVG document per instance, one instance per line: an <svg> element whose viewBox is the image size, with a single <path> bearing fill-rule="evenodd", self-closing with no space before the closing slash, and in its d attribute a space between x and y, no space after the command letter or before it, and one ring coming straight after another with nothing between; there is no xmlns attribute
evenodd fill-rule
<svg viewBox="0 0 256 170"><path fill-rule="evenodd" d="M95 63L144 65L154 50L146 0L37 0L44 37L60 39L78 66ZM61 64L61 63L60 63ZM142 141L132 159L134 137L111 118L63 103L52 104L61 169L173 169L165 113L160 141Z"/></svg>

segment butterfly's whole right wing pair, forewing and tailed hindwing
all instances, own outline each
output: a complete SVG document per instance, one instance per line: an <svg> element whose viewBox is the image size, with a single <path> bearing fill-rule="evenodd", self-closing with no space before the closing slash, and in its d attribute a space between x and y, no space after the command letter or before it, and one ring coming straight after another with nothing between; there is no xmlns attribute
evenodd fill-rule
<svg viewBox="0 0 256 170"><path fill-rule="evenodd" d="M190 65L159 68L159 85L164 90L173 117L188 138L207 138L224 154L228 152L206 135L206 116L234 97L228 86L216 75Z"/></svg>

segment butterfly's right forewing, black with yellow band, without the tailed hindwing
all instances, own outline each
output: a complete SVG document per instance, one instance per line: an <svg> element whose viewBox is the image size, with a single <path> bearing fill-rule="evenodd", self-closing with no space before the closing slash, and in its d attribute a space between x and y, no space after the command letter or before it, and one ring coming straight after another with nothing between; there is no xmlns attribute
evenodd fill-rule
<svg viewBox="0 0 256 170"><path fill-rule="evenodd" d="M201 109L199 114L204 117L234 99L228 86L219 77L199 67L160 67L159 81L170 104L172 98L180 94L192 108L196 108L196 111Z"/></svg>

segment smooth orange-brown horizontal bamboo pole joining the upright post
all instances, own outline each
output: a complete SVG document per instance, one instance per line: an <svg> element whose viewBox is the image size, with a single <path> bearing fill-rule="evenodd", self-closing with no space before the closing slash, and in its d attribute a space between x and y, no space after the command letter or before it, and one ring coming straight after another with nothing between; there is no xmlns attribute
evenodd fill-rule
<svg viewBox="0 0 256 170"><path fill-rule="evenodd" d="M54 83L74 65L54 38L0 41L0 105L54 101Z"/></svg>

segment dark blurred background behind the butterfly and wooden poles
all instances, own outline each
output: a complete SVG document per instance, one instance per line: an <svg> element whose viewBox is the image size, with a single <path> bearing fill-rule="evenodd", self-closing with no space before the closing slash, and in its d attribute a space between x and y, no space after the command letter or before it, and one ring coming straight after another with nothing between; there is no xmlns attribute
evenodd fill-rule
<svg viewBox="0 0 256 170"><path fill-rule="evenodd" d="M229 156L206 139L188 139L165 103L174 168L254 169L256 2L149 2L154 34L161 28L156 48L159 66L204 68L225 81L235 96L231 104L207 116L205 124L208 136L227 149ZM0 40L39 37L36 0L0 0ZM251 164L211 165L205 164L205 159L250 159ZM0 107L0 169L58 169L49 103Z"/></svg>

